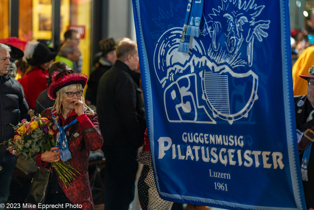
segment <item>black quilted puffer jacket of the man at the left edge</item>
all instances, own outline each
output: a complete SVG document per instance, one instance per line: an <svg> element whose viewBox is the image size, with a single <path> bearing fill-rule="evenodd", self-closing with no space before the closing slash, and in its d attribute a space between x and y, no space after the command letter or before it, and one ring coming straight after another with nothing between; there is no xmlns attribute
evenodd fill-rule
<svg viewBox="0 0 314 210"><path fill-rule="evenodd" d="M9 74L0 76L0 143L14 137L14 129L22 119L30 120L24 91ZM8 154L8 145L0 145L0 155Z"/></svg>

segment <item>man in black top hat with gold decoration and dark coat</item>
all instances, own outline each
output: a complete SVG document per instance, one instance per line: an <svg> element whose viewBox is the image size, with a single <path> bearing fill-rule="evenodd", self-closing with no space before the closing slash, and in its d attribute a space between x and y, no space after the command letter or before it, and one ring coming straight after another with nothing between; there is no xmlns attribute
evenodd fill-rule
<svg viewBox="0 0 314 210"><path fill-rule="evenodd" d="M113 38L103 39L99 42L99 45L102 51L99 58L99 66L90 74L87 82L86 99L88 99L92 105L96 105L97 88L101 76L105 74L117 60L116 43Z"/></svg>

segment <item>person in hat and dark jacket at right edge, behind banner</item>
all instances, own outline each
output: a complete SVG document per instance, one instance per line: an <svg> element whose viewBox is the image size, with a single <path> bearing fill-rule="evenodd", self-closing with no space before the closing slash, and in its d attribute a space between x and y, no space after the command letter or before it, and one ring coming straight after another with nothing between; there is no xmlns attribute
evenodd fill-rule
<svg viewBox="0 0 314 210"><path fill-rule="evenodd" d="M314 209L314 66L307 80L306 95L295 96L295 120L301 166L302 183L307 209Z"/></svg>

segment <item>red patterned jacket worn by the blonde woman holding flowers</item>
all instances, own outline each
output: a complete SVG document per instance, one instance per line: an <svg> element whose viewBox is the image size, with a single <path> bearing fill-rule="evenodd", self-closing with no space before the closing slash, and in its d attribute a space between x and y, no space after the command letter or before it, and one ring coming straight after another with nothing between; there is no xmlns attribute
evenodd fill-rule
<svg viewBox="0 0 314 210"><path fill-rule="evenodd" d="M77 115L73 110L68 116L66 123L68 124L74 120L75 116ZM46 117L53 122L51 109L43 111L41 113L41 117ZM69 150L72 153L72 158L69 159L68 162L72 166L76 167L80 174L71 183L70 187L66 188L60 179L58 179L58 182L65 195L73 204L81 204L82 209L90 210L94 209L94 203L89 184L88 156L89 151L101 148L103 144L103 137L100 134L98 116L96 113L93 115L83 114L81 116L77 116L76 119L78 120L78 128L74 131L74 133L78 133L79 136L73 136L69 143ZM62 120L64 125L63 118L60 117L59 120ZM54 124L52 124L51 127L53 125ZM56 126L54 128L56 128ZM66 129L65 132L70 131L71 128L72 126ZM56 138L58 129L54 130L54 132ZM36 164L41 167L49 167L50 164L48 162L41 162L40 157L41 154L37 155Z"/></svg>

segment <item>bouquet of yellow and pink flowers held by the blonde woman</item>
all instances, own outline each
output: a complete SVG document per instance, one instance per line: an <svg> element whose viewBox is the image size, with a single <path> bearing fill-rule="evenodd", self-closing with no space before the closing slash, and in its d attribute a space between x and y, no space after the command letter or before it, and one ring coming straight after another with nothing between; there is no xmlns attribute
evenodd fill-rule
<svg viewBox="0 0 314 210"><path fill-rule="evenodd" d="M46 150L50 151L51 147L56 145L51 124L52 122L46 117L41 117L41 115L33 116L30 122L23 119L17 126L12 125L15 129L14 138L3 143L9 145L7 150L11 153L22 154L22 158L25 157L30 162L34 162L36 154L44 153ZM51 165L65 187L70 186L70 182L74 180L76 173L79 174L75 167L62 160L52 162Z"/></svg>

